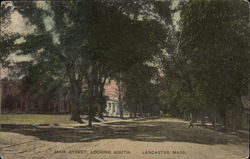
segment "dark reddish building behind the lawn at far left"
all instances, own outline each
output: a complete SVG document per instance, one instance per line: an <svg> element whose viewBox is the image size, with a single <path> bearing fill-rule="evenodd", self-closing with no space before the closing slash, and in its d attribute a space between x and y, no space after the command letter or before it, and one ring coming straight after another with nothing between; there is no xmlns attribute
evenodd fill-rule
<svg viewBox="0 0 250 159"><path fill-rule="evenodd" d="M2 80L1 105L3 113L68 113L70 103L66 96L58 94L52 100L46 100L40 93L29 96L22 80Z"/></svg>

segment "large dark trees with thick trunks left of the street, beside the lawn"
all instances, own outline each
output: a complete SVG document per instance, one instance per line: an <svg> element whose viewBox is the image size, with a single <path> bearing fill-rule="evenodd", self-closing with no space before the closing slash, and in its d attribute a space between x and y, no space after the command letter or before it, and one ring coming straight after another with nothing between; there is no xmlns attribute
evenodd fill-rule
<svg viewBox="0 0 250 159"><path fill-rule="evenodd" d="M135 65L146 67L144 63L159 53L158 44L165 39L164 25L149 18L160 10L155 1L51 1L40 7L37 2L12 4L28 25L36 27L31 34L19 35L23 42L12 41L12 48L6 50L7 55L17 50L19 55L32 56L32 61L16 64L20 75L25 75L26 92L47 96L66 90L72 96L71 120L78 122L84 94L89 125L96 112L103 117L107 79L118 79L120 74L128 77ZM46 18L52 20L46 22Z"/></svg>

